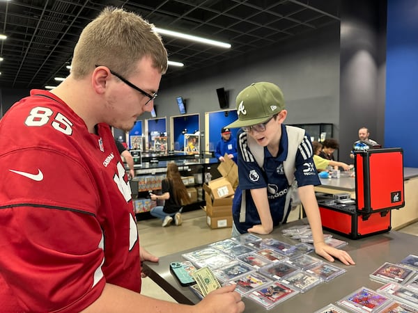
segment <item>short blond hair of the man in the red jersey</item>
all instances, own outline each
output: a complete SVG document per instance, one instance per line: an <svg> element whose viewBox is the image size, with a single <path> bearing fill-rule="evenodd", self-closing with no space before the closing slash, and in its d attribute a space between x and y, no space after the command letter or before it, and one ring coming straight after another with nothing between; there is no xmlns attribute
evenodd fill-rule
<svg viewBox="0 0 418 313"><path fill-rule="evenodd" d="M145 56L162 74L167 71L167 50L162 39L135 13L107 7L82 31L72 57L71 73L75 79L86 77L95 65L104 65L122 76L136 70Z"/></svg>

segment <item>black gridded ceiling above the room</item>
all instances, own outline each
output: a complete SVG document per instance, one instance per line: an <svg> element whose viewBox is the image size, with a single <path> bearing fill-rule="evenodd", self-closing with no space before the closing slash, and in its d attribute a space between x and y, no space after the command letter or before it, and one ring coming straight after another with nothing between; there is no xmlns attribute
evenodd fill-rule
<svg viewBox="0 0 418 313"><path fill-rule="evenodd" d="M210 47L162 35L178 79L256 49L339 22L337 0L0 0L0 88L43 88L68 75L79 33L104 6L141 14L156 27L231 43Z"/></svg>

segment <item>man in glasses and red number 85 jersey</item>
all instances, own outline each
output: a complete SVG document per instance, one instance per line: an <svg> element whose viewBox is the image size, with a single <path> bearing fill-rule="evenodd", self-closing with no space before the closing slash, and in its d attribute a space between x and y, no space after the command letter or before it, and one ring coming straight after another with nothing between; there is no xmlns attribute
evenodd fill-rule
<svg viewBox="0 0 418 313"><path fill-rule="evenodd" d="M79 36L71 65L58 87L31 90L0 120L1 311L244 311L233 286L195 306L140 293L141 262L158 257L139 245L109 125L129 131L153 109L167 70L153 25L105 8Z"/></svg>

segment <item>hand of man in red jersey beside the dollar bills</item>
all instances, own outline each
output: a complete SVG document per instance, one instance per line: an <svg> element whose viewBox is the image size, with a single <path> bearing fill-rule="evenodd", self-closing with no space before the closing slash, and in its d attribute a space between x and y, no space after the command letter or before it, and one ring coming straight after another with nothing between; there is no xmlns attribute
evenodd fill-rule
<svg viewBox="0 0 418 313"><path fill-rule="evenodd" d="M196 305L196 312L244 312L245 304L242 302L240 294L233 291L234 289L235 284L231 284L210 292Z"/></svg>

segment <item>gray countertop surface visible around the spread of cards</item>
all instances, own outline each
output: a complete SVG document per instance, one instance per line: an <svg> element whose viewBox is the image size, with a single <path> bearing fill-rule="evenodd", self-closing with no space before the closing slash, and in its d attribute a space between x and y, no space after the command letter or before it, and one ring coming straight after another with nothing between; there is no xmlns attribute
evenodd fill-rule
<svg viewBox="0 0 418 313"><path fill-rule="evenodd" d="M261 237L275 238L294 245L297 242L283 236L281 228L290 227L295 225L295 223L306 223L306 221L298 220L297 222L288 223L283 227L276 228L272 234L261 235ZM341 262L335 262L337 266L345 268L347 272L330 282L319 284L304 294L297 294L293 298L285 300L268 312L311 313L329 303L335 303L360 287L376 290L383 284L370 280L370 273L373 273L385 262L400 262L401 259L409 254L416 254L417 252L417 236L401 232L392 231L357 240L347 239L335 234L334 237L348 241L348 246L345 246L343 250L350 253L356 265L345 266ZM199 248L203 248L203 246L160 257L160 262L157 264L144 262L144 271L179 303L197 303L199 298L188 287L182 287L176 278L171 275L169 263L183 260L181 256L183 253L198 250ZM261 305L247 298L243 299L246 305L245 312L266 312Z"/></svg>

